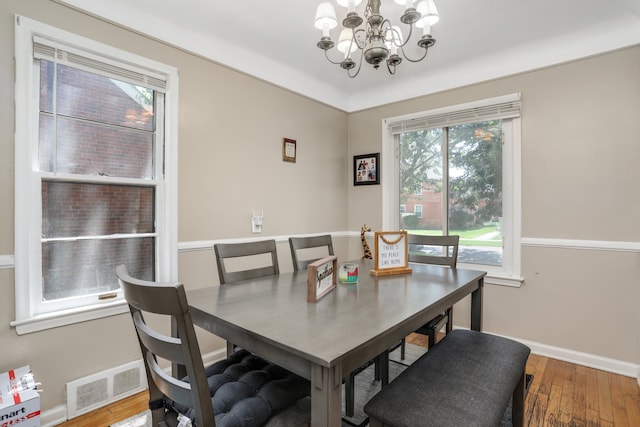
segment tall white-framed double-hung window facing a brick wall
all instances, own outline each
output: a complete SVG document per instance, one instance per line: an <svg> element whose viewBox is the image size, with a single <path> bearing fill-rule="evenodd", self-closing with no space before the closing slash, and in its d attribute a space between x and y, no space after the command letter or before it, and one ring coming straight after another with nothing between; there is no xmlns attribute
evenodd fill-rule
<svg viewBox="0 0 640 427"><path fill-rule="evenodd" d="M177 71L16 17L18 333L126 311L177 275Z"/></svg>

